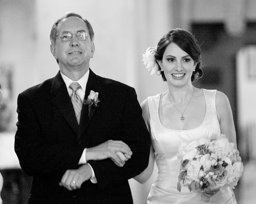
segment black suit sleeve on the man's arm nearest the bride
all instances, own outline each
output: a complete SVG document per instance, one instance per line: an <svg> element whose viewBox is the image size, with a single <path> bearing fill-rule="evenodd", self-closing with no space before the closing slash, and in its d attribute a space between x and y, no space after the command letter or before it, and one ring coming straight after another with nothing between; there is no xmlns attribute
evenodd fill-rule
<svg viewBox="0 0 256 204"><path fill-rule="evenodd" d="M116 166L110 159L89 162L100 188L127 182L148 166L150 135L142 118L142 110L134 88L128 92L122 114L120 139L130 147L133 154L124 167Z"/></svg>

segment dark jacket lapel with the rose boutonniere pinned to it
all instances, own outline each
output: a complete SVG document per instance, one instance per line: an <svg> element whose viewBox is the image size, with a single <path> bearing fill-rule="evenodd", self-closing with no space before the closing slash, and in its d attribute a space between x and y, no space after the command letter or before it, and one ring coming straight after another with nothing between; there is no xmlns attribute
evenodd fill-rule
<svg viewBox="0 0 256 204"><path fill-rule="evenodd" d="M98 78L90 69L89 78L88 78L88 82L86 85L86 91L85 91L85 95L84 95L85 99L88 98L91 90L99 93L99 100L100 100L99 106L100 106L100 103L102 102L101 101L102 88L100 86L100 82L98 81ZM88 105L83 104L80 125L79 125L79 130L78 130L78 139L80 139L80 136L82 135L82 133L84 133L86 131L86 129L88 128L96 111L97 111L97 107L93 107L90 111L90 116L89 116Z"/></svg>

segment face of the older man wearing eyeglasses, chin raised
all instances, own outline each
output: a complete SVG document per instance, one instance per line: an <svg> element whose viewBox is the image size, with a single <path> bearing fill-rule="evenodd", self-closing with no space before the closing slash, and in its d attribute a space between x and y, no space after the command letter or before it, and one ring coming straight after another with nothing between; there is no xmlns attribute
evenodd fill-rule
<svg viewBox="0 0 256 204"><path fill-rule="evenodd" d="M94 54L94 43L90 35L85 41L78 40L75 33L78 31L89 33L85 22L75 16L65 18L58 24L57 33L68 31L72 33L70 41L61 41L57 36L55 45L51 45L52 55L59 60L60 70L72 71L74 69L90 68L90 58Z"/></svg>

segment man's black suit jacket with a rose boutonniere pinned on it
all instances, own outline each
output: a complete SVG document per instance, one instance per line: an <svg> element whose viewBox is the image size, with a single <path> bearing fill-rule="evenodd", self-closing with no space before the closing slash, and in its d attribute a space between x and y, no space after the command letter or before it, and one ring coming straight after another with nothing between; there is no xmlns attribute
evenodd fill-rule
<svg viewBox="0 0 256 204"><path fill-rule="evenodd" d="M150 152L136 92L91 70L86 99L90 90L99 93L99 106L88 117L88 106L83 105L80 126L60 73L19 94L15 151L22 169L33 176L29 203L132 203L128 179L147 167ZM109 139L122 140L132 150L124 167L110 159L89 161L97 184L88 180L75 191L59 186L67 169L79 167L84 148Z"/></svg>

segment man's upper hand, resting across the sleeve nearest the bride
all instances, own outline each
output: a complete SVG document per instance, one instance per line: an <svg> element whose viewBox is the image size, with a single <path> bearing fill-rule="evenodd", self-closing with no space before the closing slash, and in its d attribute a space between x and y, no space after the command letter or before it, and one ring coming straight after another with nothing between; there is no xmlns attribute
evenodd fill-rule
<svg viewBox="0 0 256 204"><path fill-rule="evenodd" d="M122 141L108 140L86 150L86 161L110 158L119 167L123 167L131 156L130 147Z"/></svg>

